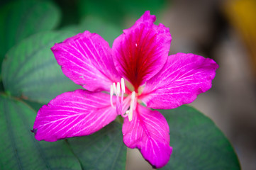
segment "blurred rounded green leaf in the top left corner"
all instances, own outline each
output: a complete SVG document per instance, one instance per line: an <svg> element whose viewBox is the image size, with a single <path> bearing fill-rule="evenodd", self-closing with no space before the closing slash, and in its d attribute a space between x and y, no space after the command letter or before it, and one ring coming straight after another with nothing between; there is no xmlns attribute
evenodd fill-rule
<svg viewBox="0 0 256 170"><path fill-rule="evenodd" d="M13 1L0 9L0 72L6 52L29 35L52 30L60 22L60 10L50 1Z"/></svg>

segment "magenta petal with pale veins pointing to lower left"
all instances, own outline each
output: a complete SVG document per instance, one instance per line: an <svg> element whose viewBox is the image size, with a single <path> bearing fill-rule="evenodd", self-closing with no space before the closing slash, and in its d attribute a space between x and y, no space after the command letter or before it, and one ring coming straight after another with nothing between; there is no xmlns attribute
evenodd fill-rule
<svg viewBox="0 0 256 170"><path fill-rule="evenodd" d="M82 89L66 92L38 111L33 131L35 139L56 141L90 135L116 118L109 95Z"/></svg>

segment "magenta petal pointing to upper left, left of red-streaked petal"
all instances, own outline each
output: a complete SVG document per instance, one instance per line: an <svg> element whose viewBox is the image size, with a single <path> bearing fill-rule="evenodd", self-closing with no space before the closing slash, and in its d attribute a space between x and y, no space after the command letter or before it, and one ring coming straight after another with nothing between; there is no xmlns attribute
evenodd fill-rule
<svg viewBox="0 0 256 170"><path fill-rule="evenodd" d="M96 33L79 33L52 47L62 72L89 91L108 91L117 79L111 48Z"/></svg>

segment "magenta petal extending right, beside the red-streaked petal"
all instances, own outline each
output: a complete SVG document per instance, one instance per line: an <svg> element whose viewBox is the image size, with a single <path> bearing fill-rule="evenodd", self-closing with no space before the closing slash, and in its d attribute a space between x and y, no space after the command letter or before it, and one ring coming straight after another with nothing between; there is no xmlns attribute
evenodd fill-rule
<svg viewBox="0 0 256 170"><path fill-rule="evenodd" d="M191 103L211 88L218 64L199 55L168 57L162 70L147 82L141 100L149 108L170 109Z"/></svg>

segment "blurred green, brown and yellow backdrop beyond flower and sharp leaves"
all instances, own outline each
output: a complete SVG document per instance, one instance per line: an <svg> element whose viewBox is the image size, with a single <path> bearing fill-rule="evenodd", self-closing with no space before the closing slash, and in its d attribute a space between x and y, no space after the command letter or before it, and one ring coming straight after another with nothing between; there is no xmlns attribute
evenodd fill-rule
<svg viewBox="0 0 256 170"><path fill-rule="evenodd" d="M0 6L9 1L0 1ZM105 32L111 43L150 10L169 27L169 54L191 52L219 64L213 87L191 103L208 115L232 143L242 169L256 169L255 0L55 0L62 13L57 29ZM127 169L151 169L138 151Z"/></svg>

